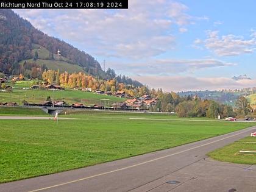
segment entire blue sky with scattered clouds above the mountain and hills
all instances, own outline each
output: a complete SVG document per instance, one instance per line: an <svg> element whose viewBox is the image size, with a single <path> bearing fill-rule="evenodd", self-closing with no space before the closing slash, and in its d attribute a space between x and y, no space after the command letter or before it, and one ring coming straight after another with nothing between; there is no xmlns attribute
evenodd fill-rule
<svg viewBox="0 0 256 192"><path fill-rule="evenodd" d="M256 1L129 0L127 10L14 10L151 88L256 87ZM103 68L103 66L102 66ZM251 80L233 80L246 74Z"/></svg>

